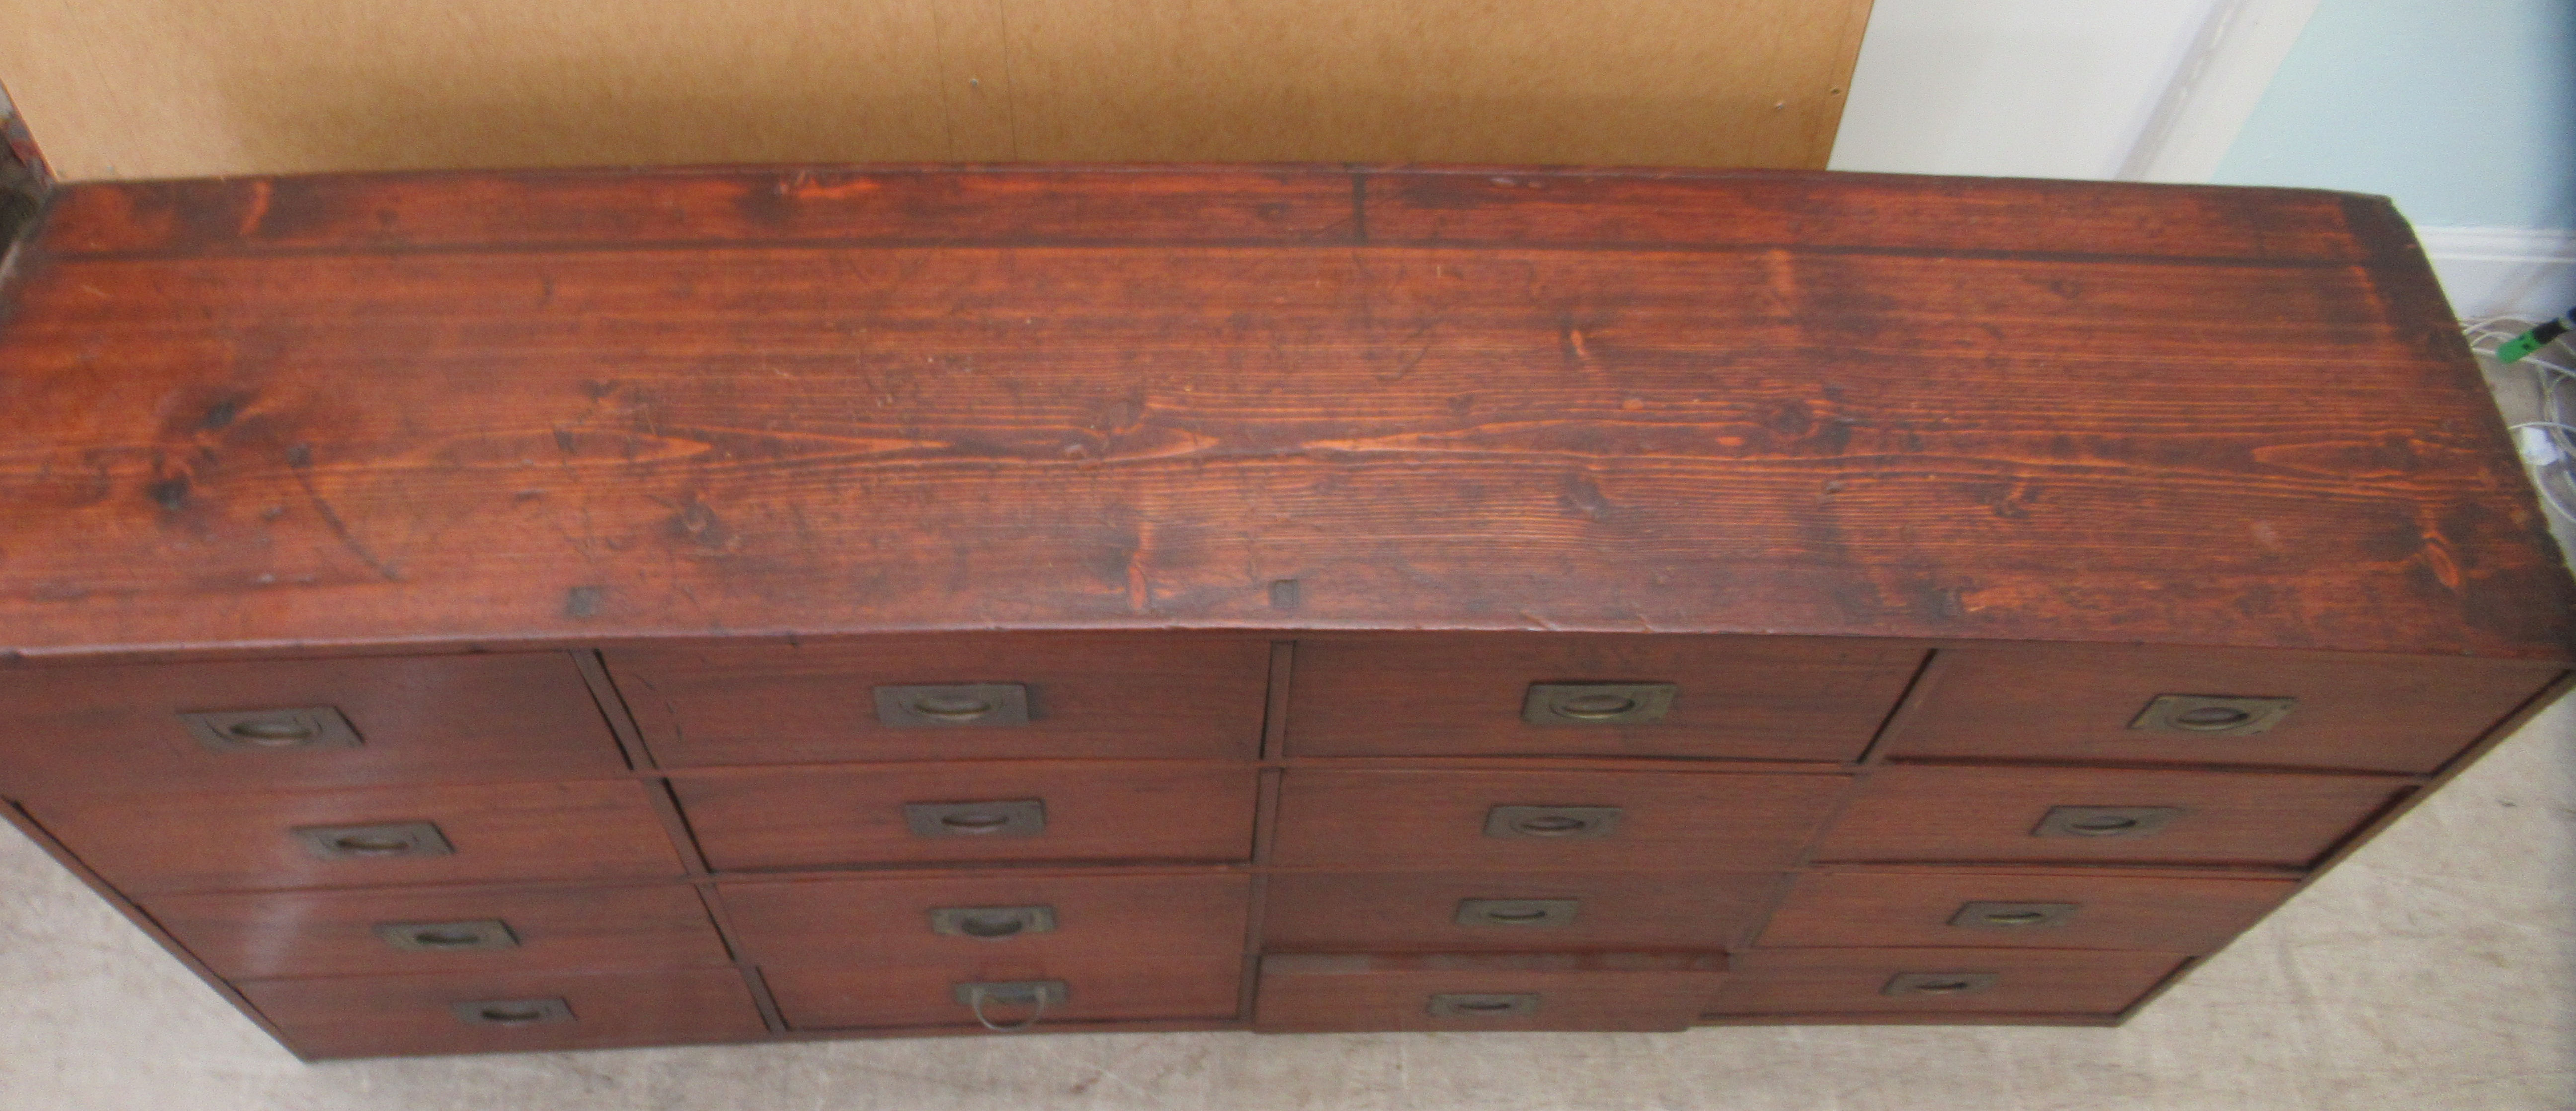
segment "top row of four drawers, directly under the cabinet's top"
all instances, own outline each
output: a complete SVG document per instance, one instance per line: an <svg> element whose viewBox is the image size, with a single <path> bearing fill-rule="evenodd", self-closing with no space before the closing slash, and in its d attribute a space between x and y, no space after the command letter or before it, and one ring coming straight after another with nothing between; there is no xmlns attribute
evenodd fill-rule
<svg viewBox="0 0 2576 1111"><path fill-rule="evenodd" d="M1260 750L1270 642L922 637L608 650L667 768ZM1301 639L1293 758L1847 763L1924 652L1770 637ZM1899 760L2424 773L2550 675L2228 652L1942 652ZM0 794L587 778L626 768L564 652L0 670Z"/></svg>

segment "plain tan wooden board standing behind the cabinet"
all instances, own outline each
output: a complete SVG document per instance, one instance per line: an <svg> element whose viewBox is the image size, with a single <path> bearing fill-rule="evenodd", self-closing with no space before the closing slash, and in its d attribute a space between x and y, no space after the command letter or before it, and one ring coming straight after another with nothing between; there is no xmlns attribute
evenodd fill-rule
<svg viewBox="0 0 2576 1111"><path fill-rule="evenodd" d="M1437 160L1821 168L1868 0L0 0L64 180Z"/></svg>

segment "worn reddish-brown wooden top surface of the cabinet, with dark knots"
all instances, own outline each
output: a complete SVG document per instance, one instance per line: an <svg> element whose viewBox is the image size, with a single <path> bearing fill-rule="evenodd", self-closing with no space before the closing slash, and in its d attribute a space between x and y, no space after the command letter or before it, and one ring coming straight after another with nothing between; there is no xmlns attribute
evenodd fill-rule
<svg viewBox="0 0 2576 1111"><path fill-rule="evenodd" d="M0 650L1584 629L2568 657L2380 198L1826 173L72 186Z"/></svg>

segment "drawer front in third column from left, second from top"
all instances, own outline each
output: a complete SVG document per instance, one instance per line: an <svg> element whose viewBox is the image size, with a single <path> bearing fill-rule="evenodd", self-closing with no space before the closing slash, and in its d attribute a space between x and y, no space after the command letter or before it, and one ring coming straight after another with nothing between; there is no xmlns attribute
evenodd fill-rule
<svg viewBox="0 0 2576 1111"><path fill-rule="evenodd" d="M1783 773L1296 768L1280 784L1273 864L1785 869L1847 784L1850 776ZM1535 822L1558 812L1556 825L1597 815L1607 830L1543 830Z"/></svg>

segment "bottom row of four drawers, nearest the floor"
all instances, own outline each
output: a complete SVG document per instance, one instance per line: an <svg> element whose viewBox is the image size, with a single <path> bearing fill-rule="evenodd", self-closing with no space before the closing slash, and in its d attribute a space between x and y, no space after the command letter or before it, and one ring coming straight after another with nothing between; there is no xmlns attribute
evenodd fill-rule
<svg viewBox="0 0 2576 1111"><path fill-rule="evenodd" d="M1726 1018L2110 1018L2190 956L2063 949L1716 954L1275 954L1252 1029L1677 1031ZM953 969L762 967L791 1031L1041 1029L1239 1016L1242 959L1059 961L1025 980ZM242 995L307 1057L752 1041L732 969L265 980ZM1079 1029L1079 1026L1074 1026Z"/></svg>

